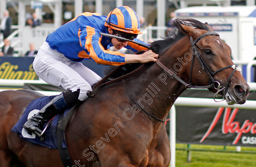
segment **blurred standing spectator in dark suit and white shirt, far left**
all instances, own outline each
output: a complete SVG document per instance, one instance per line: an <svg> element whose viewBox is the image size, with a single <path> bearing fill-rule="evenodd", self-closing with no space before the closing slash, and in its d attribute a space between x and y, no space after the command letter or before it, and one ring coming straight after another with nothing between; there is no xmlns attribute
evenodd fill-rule
<svg viewBox="0 0 256 167"><path fill-rule="evenodd" d="M12 18L9 16L9 11L4 12L4 18L1 20L1 33L4 35L4 39L11 34Z"/></svg>

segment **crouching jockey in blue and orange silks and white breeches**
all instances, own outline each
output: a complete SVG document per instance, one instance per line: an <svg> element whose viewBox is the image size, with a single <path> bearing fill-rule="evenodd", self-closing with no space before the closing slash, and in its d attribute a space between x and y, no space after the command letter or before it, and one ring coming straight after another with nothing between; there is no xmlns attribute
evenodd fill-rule
<svg viewBox="0 0 256 167"><path fill-rule="evenodd" d="M91 85L101 80L96 73L85 67L82 60L92 59L98 64L123 65L126 63L155 62L158 54L151 50L141 54L123 54L110 51L125 47L134 52L148 50L124 40L101 36L99 32L120 36L146 44L137 39L140 22L136 12L120 6L108 16L84 12L52 32L40 47L33 67L38 77L56 87L68 90L52 99L23 127L42 136L43 124L59 112L84 101L91 93ZM146 44L148 45L148 44Z"/></svg>

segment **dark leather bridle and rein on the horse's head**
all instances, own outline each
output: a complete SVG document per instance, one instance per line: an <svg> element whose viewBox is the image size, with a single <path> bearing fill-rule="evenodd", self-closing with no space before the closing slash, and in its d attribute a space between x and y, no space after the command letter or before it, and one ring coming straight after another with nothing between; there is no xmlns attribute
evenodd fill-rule
<svg viewBox="0 0 256 167"><path fill-rule="evenodd" d="M226 66L226 67L223 67L223 68L220 68L219 70L216 70L214 72L212 72L212 70L210 70L210 68L207 66L207 64L204 62L204 60L202 59L202 56L200 54L200 52L197 50L196 48L196 43L201 40L202 37L204 36L210 36L210 35L217 35L219 36L219 34L217 32L206 32L202 35L200 35L199 37L197 37L197 39L193 40L193 38L190 36L190 43L191 43L191 46L192 46L192 60L191 60L191 66L190 66L190 83L191 84L187 84L185 81L183 81L182 79L180 79L172 70L169 70L165 65L163 65L159 59L157 59L156 63L163 69L163 70L166 70L169 75L171 75L172 77L176 78L178 81L180 81L182 84L185 85L185 88L186 89L190 89L190 88L195 88L195 89L209 89L209 88L215 88L217 90L216 94L214 95L214 101L215 100L215 97L218 96L218 94L221 92L221 91L224 91L223 93L223 97L225 100L225 95L227 93L227 89L228 89L228 86L229 86L229 81L231 79L231 77L233 76L234 72L237 70L237 71L240 71L240 68L233 64L233 65L229 65L229 66ZM206 85L206 86L196 86L196 85L193 85L192 84L192 69L193 69L193 64L194 64L194 56L197 57L197 60L199 61L200 63L200 66L202 67L202 69L208 74L208 77L209 77L209 85ZM229 78L227 78L227 82L226 82L226 85L223 86L221 85L218 81L216 81L213 76L221 71L221 70L224 70L226 68L229 68L229 67L232 67L234 70L232 71L232 73L230 74ZM222 101L223 101L222 100ZM219 101L216 101L216 102L219 102Z"/></svg>

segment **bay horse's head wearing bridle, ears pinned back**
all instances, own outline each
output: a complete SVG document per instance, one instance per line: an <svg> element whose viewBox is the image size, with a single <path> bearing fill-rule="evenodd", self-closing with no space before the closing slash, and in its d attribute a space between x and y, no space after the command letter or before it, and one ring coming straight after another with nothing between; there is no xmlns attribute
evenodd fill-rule
<svg viewBox="0 0 256 167"><path fill-rule="evenodd" d="M230 47L207 23L204 24L206 29L176 23L183 34L190 36L193 57L187 68L190 84L212 85L208 89L222 94L227 104L244 104L250 87L241 75L241 69L232 62Z"/></svg>

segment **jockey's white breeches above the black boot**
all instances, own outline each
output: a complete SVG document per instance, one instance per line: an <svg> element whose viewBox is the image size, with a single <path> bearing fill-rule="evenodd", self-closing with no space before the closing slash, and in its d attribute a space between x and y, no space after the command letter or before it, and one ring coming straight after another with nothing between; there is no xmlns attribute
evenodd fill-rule
<svg viewBox="0 0 256 167"><path fill-rule="evenodd" d="M83 101L88 96L91 85L101 80L101 77L80 62L66 58L57 50L51 49L47 42L39 48L33 67L42 80L53 86L71 90L80 89L78 99Z"/></svg>

